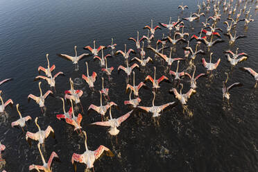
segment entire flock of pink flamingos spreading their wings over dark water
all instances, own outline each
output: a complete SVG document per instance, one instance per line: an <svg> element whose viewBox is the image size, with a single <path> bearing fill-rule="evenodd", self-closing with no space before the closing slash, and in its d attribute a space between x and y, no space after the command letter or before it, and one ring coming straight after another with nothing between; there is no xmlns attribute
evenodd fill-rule
<svg viewBox="0 0 258 172"><path fill-rule="evenodd" d="M70 60L73 62L73 64L78 65L78 61L82 60L83 58L93 55L93 58L96 60L99 60L100 65L101 65L101 71L105 72L108 78L112 75L112 71L114 70L114 67L107 67L107 57L111 57L114 55L119 55L121 54L123 58L126 60L125 66L119 65L117 68L118 71L123 70L126 75L129 77L131 74L133 75L133 80L132 80L132 85L128 84L127 87L125 88L126 91L130 91L129 94L129 100L124 101L125 105L130 105L132 110L126 114L123 114L121 117L114 118L112 117L112 106L117 106L116 103L113 101L110 101L110 98L108 96L109 89L104 86L104 78L102 79L102 89L99 90L99 95L100 95L100 105L89 105L88 111L89 110L94 110L96 113L101 114L101 121L96 121L94 123L91 123L92 125L96 126L105 126L109 127L110 129L108 132L110 135L118 135L119 130L117 129L119 126L121 126L121 123L123 121L126 121L128 117L130 117L130 114L134 110L142 110L144 112L149 112L153 114L153 118L155 119L156 117L160 117L161 112L166 108L171 105L175 104L175 101L165 103L164 105L155 105L155 91L157 89L160 89L162 81L166 80L167 82L169 81L169 78L166 76L161 76L160 78L156 78L156 67L154 67L154 76L146 76L145 80L139 85L135 83L135 72L133 71L136 67L139 68L141 67L146 67L148 65L148 62L153 62L153 58L148 57L146 58L146 49L144 49L144 41L146 40L146 43L148 44L147 48L153 51L153 54L155 57L160 57L164 62L167 63L169 67L171 67L172 63L177 61L177 68L175 70L170 70L169 74L171 76L174 76L174 80L178 82L178 86L180 85L180 89L178 91L177 87L174 87L171 89L169 92L175 95L175 98L178 99L178 101L182 105L186 105L188 99L191 97L192 94L196 92L197 89L197 80L198 78L202 76L209 76L212 71L216 70L218 65L221 62L221 58L216 58L216 60L212 60L212 55L213 53L209 51L209 48L211 46L215 46L215 44L219 44L220 42L225 42L228 41L229 44L234 44L239 38L246 37L244 35L239 35L236 34L236 31L234 28L238 25L244 25L245 27L248 26L250 22L253 22L254 19L252 19L252 15L249 15L250 10L252 7L247 9L247 2L248 1L241 1L238 0L234 3L233 0L207 0L203 1L203 3L198 3L198 12L197 13L191 13L189 17L182 18L180 19L178 17L178 21L176 22L171 22L171 17L169 19L168 24L164 23L159 23L160 26L167 28L169 30L169 34L165 36L163 34L163 37L160 40L157 40L155 42L155 47L151 45L151 43L154 42L154 37L155 37L155 32L157 29L161 29L160 26L153 26L153 19L151 19L150 26L145 26L144 29L148 29L148 35L144 35L139 39L139 31L137 31L137 38L129 37L129 40L132 40L135 42L136 50L133 49L128 49L125 44L125 49L124 51L119 50L115 51L117 44L114 44L114 40L112 38L112 43L109 46L98 46L96 47L96 42L94 41L93 44L94 46L85 46L84 48L89 51L89 53L83 53L81 55L77 54L76 51L76 46L74 46L74 51L75 51L75 56L71 55L66 55L66 54L58 54L60 57L65 58L67 60ZM258 0L257 0L258 2ZM207 17L206 22L202 23L202 28L200 30L200 35L189 35L189 33L184 33L184 20L187 22L193 22L195 20L200 19L200 17L205 16L205 11L211 10L212 8L214 10L214 15ZM187 10L187 6L178 6L182 11ZM258 9L258 6L255 6L255 10ZM224 21L223 24L225 24L225 29L222 28L217 28L216 24L220 22L221 19L221 10L224 12L227 12L227 21ZM201 12L203 11L203 12ZM236 14L236 15L235 15ZM174 33L172 31L174 30ZM225 30L225 31L223 31ZM227 35L229 37L229 40L221 40L221 34ZM173 34L173 36L172 36ZM237 36L236 36L237 35ZM218 37L218 39L216 39ZM216 39L216 40L214 40ZM194 48L189 46L189 42L196 40L196 46ZM141 46L142 42L142 46ZM185 42L187 43L187 46L184 47L184 58L172 58L171 53L173 51L173 47L178 44L178 42ZM159 45L161 44L161 47ZM205 51L201 50L200 44L205 44L207 46L208 51L206 53L209 53L209 60L202 58L202 63L203 67L207 69L207 74L196 74L196 65L194 65L194 60L198 56L198 54L204 54ZM164 49L170 49L169 55L164 54ZM104 56L103 49L110 49L110 54L107 54ZM243 60L248 59L248 54L247 53L239 53L239 49L236 48L235 53L232 50L227 50L225 51L225 56L227 58L227 61L230 62L230 65L232 67L236 66L239 62L242 62ZM98 55L101 52L101 55ZM130 55L132 53L135 53L138 57L130 59ZM32 99L37 103L42 112L44 111L44 101L45 99L49 96L49 94L53 94L55 92L55 79L63 75L63 73L60 71L54 76L52 75L53 70L55 69L55 65L50 65L49 63L49 58L48 54L46 54L46 60L47 60L47 67L38 67L38 71L43 71L45 76L37 76L35 77L35 80L46 80L46 82L49 84L52 90L49 89L47 92L44 94L42 93L42 89L40 87L41 82L38 83L39 89L40 89L40 95L35 96L33 94L28 95L28 99ZM186 60L186 62L189 62L188 68L184 69L183 71L179 71L180 68L180 61L181 60ZM133 65L130 65L132 62L139 62L139 64L134 63ZM97 74L96 72L92 72L92 75L89 76L89 67L86 62L86 68L87 68L87 75L82 75L83 80L89 85L89 88L94 89L94 82L96 81ZM243 67L241 68L243 71L247 71L250 73L253 78L255 78L256 83L255 87L257 86L258 82L258 74L251 69L250 67ZM189 71L189 72L187 72ZM190 74L192 72L192 74ZM180 80L182 80L182 76L184 77L189 77L189 82L191 83L189 87L189 91L186 93L182 93L183 89L183 83L180 83ZM227 78L223 82L223 87L222 87L222 96L223 98L230 99L230 89L233 87L239 87L242 86L241 83L233 83L232 85L228 86L227 85L227 80L229 78L229 74L226 73ZM0 85L3 83L6 83L8 81L12 80L11 78L8 78L6 80L2 80L0 82ZM150 81L153 85L153 101L152 101L152 106L150 107L145 107L139 105L141 103L141 98L139 98L139 90L141 87L145 86L146 87L146 82ZM66 123L68 123L71 126L74 126L74 130L76 132L83 132L83 135L85 136L85 152L83 153L84 150L78 150L78 153L74 153L71 155L71 164L74 164L74 169L76 171L76 162L78 163L83 163L86 164L87 169L92 169L94 167L94 161L97 160L103 153L105 155L113 156L113 153L111 150L103 145L99 146L96 150L89 150L87 147L87 135L86 132L82 128L83 126L80 125L80 122L83 120L83 115L78 113L77 116L74 112L74 104L75 105L80 105L82 113L83 113L83 106L80 103L80 96L83 95L83 91L80 89L75 89L74 88L74 82L71 78L69 78L69 83L71 88L67 91L65 91L65 97L61 98L62 100L62 108L63 108L63 114L57 114L56 118L61 120L63 119ZM134 98L132 98L132 93ZM103 105L102 97L107 98L107 104ZM0 105L0 112L5 112L6 106L13 104L12 100L9 99L4 103L3 98L1 98L1 105ZM69 108L69 111L66 112L65 110L65 100L69 99L69 103L71 104L71 107ZM160 104L160 103L158 103ZM19 114L19 119L17 121L13 121L11 123L12 127L19 126L22 128L24 131L24 127L26 126L26 121L32 120L30 116L23 117L21 112L19 112L19 104L16 105L17 112ZM107 112L109 111L109 112ZM109 117L105 117L105 115L109 113ZM44 144L44 140L49 137L49 135L54 135L54 130L51 126L47 126L45 130L42 130L40 128L40 125L38 124L37 118L35 118L35 125L38 128L37 132L26 132L26 140L28 143L31 145L31 141L36 141L37 142L37 148L40 152L40 156L42 158L42 165L35 165L32 164L31 166L28 167L28 169L35 170L35 171L52 171L51 164L54 158L58 158L57 153L52 152L51 156L49 157L49 161L46 162L44 159L44 155L42 155L42 150L41 150L41 145ZM6 146L0 143L0 161L4 161L3 158L1 157L1 152L5 150ZM35 162L36 164L38 162ZM93 169L94 170L94 169Z"/></svg>

